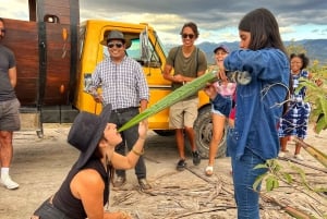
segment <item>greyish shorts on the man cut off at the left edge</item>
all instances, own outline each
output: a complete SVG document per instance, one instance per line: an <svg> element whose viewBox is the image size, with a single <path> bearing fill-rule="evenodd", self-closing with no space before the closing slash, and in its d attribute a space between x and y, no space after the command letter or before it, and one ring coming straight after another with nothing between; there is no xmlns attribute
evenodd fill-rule
<svg viewBox="0 0 327 219"><path fill-rule="evenodd" d="M19 99L0 101L0 131L13 132L21 129L20 107Z"/></svg>

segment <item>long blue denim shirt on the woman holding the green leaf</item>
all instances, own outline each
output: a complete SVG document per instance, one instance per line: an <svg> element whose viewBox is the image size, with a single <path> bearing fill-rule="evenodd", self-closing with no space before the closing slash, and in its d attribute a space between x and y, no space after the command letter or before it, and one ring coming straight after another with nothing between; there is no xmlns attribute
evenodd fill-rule
<svg viewBox="0 0 327 219"><path fill-rule="evenodd" d="M240 159L246 147L264 160L277 157L277 124L290 78L288 57L275 48L242 49L232 51L223 64L226 70L247 71L252 76L250 84L237 87L235 126L227 138L228 154Z"/></svg>

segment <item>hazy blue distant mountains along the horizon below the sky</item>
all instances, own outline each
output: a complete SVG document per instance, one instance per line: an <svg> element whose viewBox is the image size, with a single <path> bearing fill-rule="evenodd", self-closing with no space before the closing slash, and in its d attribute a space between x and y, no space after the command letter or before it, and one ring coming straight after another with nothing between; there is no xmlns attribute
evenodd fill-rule
<svg viewBox="0 0 327 219"><path fill-rule="evenodd" d="M232 51L239 48L240 42L234 41L215 44L205 41L197 46L206 53L208 63L214 63L213 50L220 44L228 46L228 48ZM299 41L284 41L286 46L289 46L290 44L303 46L304 49L307 51L306 54L311 61L318 60L320 64L327 64L327 39L303 39ZM174 46L177 45L166 45L167 51L169 51L169 49Z"/></svg>

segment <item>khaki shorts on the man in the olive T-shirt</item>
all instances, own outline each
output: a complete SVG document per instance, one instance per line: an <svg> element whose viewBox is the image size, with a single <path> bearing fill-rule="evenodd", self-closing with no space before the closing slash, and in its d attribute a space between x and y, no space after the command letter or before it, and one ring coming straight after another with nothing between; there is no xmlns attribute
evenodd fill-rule
<svg viewBox="0 0 327 219"><path fill-rule="evenodd" d="M169 109L169 127L193 127L197 118L198 97L179 101Z"/></svg>

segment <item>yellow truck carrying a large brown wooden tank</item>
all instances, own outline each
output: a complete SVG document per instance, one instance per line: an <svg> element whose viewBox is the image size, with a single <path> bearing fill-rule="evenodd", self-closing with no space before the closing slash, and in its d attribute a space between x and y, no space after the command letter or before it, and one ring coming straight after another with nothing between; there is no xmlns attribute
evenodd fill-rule
<svg viewBox="0 0 327 219"><path fill-rule="evenodd" d="M80 23L78 0L29 0L29 21L4 19L7 36L17 62L16 94L21 112L37 117L37 134L44 123L70 123L81 110L99 113L101 105L85 92L97 63L108 56L100 41L112 29L130 39L126 54L144 70L149 90L149 106L171 93L164 80L167 51L154 27L105 20ZM211 118L208 97L199 92L198 118L195 122L196 144L202 157L208 157ZM159 135L172 135L168 126L169 109L148 119L149 129ZM226 137L217 157L226 151Z"/></svg>

